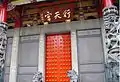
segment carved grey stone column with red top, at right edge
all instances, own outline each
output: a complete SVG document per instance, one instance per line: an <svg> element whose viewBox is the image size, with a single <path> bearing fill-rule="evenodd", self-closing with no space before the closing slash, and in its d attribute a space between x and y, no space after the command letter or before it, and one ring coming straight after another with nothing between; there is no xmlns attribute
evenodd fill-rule
<svg viewBox="0 0 120 82"><path fill-rule="evenodd" d="M104 0L103 37L105 44L106 82L119 82L120 72L120 19L117 7Z"/></svg>

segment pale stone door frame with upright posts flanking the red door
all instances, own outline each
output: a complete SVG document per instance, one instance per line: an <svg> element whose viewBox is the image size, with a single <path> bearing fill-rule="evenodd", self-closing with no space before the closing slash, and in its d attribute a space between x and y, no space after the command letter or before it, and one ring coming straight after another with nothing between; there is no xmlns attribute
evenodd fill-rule
<svg viewBox="0 0 120 82"><path fill-rule="evenodd" d="M62 33L70 33L71 35L71 60L72 60L72 70L75 70L78 75L78 56L77 56L77 37L76 30L71 31L62 31L62 32L40 32L39 38L39 63L38 63L38 71L43 73L43 81L45 82L45 54L46 54L46 35L49 34L62 34Z"/></svg>

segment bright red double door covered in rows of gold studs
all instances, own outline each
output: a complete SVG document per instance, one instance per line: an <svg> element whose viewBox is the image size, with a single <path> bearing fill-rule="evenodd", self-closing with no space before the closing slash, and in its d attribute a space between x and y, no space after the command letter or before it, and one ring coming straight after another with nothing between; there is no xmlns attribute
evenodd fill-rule
<svg viewBox="0 0 120 82"><path fill-rule="evenodd" d="M53 34L46 37L45 82L70 82L67 71L71 69L70 34Z"/></svg>

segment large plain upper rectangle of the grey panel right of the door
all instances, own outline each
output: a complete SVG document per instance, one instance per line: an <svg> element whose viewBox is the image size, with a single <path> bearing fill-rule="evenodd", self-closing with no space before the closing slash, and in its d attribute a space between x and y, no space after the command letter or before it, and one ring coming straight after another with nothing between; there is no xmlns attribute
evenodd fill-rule
<svg viewBox="0 0 120 82"><path fill-rule="evenodd" d="M78 38L78 54L80 64L103 63L101 38L99 36Z"/></svg>

